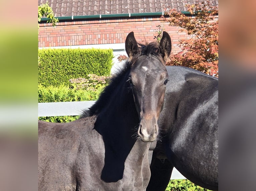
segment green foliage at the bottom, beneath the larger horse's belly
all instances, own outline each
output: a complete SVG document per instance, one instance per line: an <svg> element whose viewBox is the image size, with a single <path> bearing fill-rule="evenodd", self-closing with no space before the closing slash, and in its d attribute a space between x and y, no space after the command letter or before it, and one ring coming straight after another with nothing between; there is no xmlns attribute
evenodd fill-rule
<svg viewBox="0 0 256 191"><path fill-rule="evenodd" d="M174 180L170 180L165 191L209 191L209 190L202 188L200 186L197 186L187 179L174 179Z"/></svg>

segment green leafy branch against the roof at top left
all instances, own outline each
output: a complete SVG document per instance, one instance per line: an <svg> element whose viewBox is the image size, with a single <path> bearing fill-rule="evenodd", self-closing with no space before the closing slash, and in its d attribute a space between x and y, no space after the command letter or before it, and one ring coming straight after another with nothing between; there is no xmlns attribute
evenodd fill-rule
<svg viewBox="0 0 256 191"><path fill-rule="evenodd" d="M52 8L49 6L48 2L38 6L38 22L41 21L41 18L43 16L49 19L47 23L52 23L53 27L55 27L56 23L59 21L57 18L54 17L54 13L52 11ZM38 28L39 28L39 24L38 24Z"/></svg>

